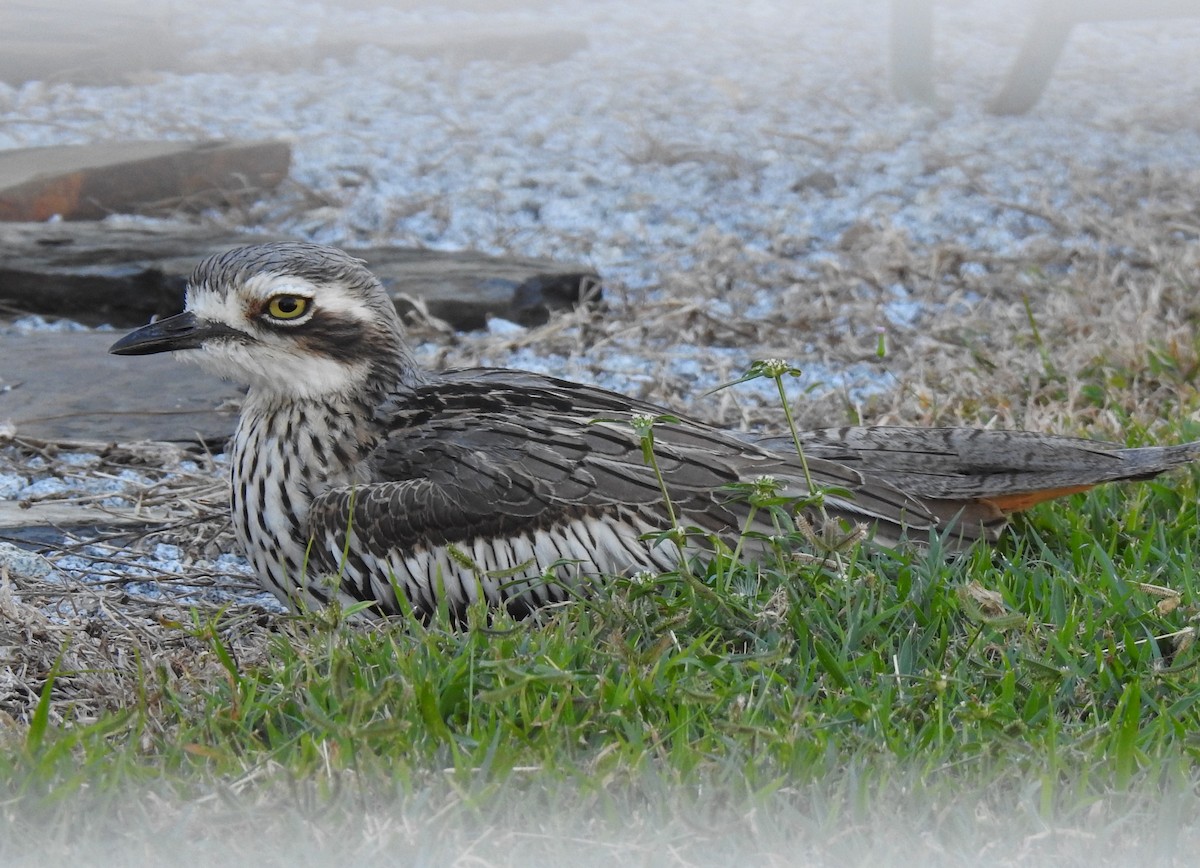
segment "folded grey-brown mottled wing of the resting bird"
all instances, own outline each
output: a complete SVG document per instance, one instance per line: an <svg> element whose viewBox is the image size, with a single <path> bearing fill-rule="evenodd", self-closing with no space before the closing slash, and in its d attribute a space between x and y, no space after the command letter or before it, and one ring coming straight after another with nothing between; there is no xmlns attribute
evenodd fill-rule
<svg viewBox="0 0 1200 868"><path fill-rule="evenodd" d="M606 533L598 521L628 526L631 516L644 522L640 533L665 528L659 480L629 423L635 413L660 412L540 375L449 372L391 402L373 481L318 497L310 529L330 540L323 557L336 558L346 549L347 525L353 547L378 557L480 538L532 538L581 517L594 533ZM654 441L659 471L686 523L736 532L745 508L722 491L731 483L769 474L786 495L808 492L794 454L773 454L703 423L659 423ZM865 484L854 469L821 459L809 467L818 485L852 492L830 496L830 514L884 528L889 543L943 521L888 484Z"/></svg>

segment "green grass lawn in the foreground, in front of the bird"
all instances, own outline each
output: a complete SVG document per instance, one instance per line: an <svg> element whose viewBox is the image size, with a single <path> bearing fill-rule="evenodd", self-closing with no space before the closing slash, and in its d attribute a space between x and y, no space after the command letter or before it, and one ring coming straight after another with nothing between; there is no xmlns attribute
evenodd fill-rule
<svg viewBox="0 0 1200 868"><path fill-rule="evenodd" d="M181 624L221 677L148 670L54 728L56 671L6 728L0 861L1170 861L1200 839L1198 479L958 558L719 557L538 623L283 618L252 664Z"/></svg>

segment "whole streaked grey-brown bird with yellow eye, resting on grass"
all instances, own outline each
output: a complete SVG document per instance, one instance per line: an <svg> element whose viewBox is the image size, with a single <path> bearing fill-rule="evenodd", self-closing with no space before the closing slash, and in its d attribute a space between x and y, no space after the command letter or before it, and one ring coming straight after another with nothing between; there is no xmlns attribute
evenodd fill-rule
<svg viewBox="0 0 1200 868"><path fill-rule="evenodd" d="M608 576L677 569L695 534L672 528L778 533L736 493L764 480L877 545L961 549L1044 499L1200 456L1200 442L954 427L756 439L551 375L425 370L366 264L305 241L204 259L182 312L110 352L178 352L247 388L229 448L241 549L289 607L367 617L482 601L521 618Z"/></svg>

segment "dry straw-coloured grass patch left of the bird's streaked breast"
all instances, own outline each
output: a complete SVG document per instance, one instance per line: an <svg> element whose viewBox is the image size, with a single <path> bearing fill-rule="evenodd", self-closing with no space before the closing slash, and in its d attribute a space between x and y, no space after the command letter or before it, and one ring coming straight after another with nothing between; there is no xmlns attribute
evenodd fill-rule
<svg viewBox="0 0 1200 868"><path fill-rule="evenodd" d="M61 460L64 453L79 451L97 457L83 466ZM127 707L158 678L210 681L214 660L205 630L212 624L244 659L259 654L268 624L264 612L252 604L229 605L230 592L240 588L246 597L251 585L245 577L197 568L234 546L224 505L227 484L211 457L166 443L12 438L0 447L0 469L22 467L30 477L80 484L136 469L148 480L134 486L132 497L149 521L100 535L83 531L77 537L76 531L60 528L55 533L60 544L42 556L0 559L0 719L10 725L28 723L52 671L59 674L50 704L54 725L89 722ZM67 487L37 502L90 502L102 514L98 499ZM131 513L113 511L121 521ZM140 559L160 543L185 552L179 571L155 569ZM100 564L86 577L77 576L71 563L84 549L88 559ZM106 562L110 569L103 568ZM157 592L138 593L136 582L152 582Z"/></svg>

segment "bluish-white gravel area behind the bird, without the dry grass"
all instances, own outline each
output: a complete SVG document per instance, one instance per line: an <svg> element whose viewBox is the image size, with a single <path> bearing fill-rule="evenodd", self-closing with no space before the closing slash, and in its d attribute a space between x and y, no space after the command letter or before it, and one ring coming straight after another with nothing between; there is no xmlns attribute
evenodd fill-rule
<svg viewBox="0 0 1200 868"><path fill-rule="evenodd" d="M847 247L881 232L914 253L950 247L949 277L970 289L996 258L1094 246L1075 219L1097 208L1081 194L1092 182L1196 180L1200 22L1080 28L1033 113L984 114L1034 5L938 4L935 109L888 96L881 0L181 5L174 26L204 46L187 60L205 72L0 85L0 148L286 138L295 186L233 219L342 246L586 261L623 309L700 293L714 319L786 328L772 348L802 361L806 384L862 397L890 388L889 372L830 359L828 337L805 334L792 313L842 268ZM398 38L488 23L582 32L588 47L548 65L371 47L350 62L304 62L314 41L338 34ZM706 286L722 274L734 286ZM902 335L948 311L902 275L881 286L851 275L836 289L835 304L859 306L854 319L833 321L859 355L881 329ZM641 391L666 376L677 393L710 388L746 361L736 334L677 341L649 366L646 342L610 341L587 358L490 347L485 360Z"/></svg>

